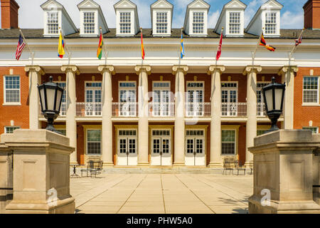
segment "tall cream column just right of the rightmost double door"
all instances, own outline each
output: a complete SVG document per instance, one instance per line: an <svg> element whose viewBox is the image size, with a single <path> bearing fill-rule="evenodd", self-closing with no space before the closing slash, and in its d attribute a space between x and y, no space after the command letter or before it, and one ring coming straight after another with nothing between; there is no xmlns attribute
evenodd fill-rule
<svg viewBox="0 0 320 228"><path fill-rule="evenodd" d="M224 66L210 66L211 75L211 124L210 124L210 167L221 167L221 73Z"/></svg>

